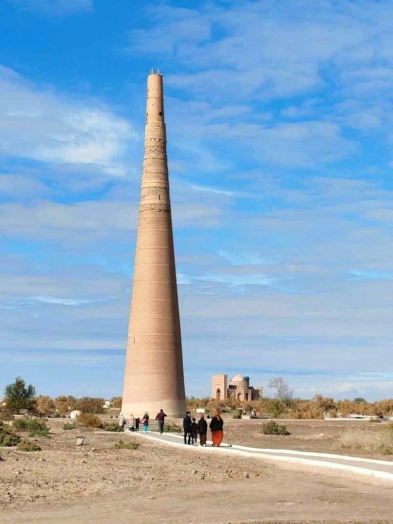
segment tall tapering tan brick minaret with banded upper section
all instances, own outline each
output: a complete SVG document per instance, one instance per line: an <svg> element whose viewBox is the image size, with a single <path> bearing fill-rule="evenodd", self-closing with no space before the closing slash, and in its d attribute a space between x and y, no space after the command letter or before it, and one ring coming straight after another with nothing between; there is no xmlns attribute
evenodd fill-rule
<svg viewBox="0 0 393 524"><path fill-rule="evenodd" d="M122 412L184 417L183 358L169 200L162 75L147 77L145 156Z"/></svg>

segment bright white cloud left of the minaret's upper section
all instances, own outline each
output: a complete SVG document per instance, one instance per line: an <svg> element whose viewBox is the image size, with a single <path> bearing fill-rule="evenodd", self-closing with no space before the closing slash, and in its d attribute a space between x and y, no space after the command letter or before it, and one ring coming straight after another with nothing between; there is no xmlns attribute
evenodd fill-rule
<svg viewBox="0 0 393 524"><path fill-rule="evenodd" d="M0 66L0 154L95 164L118 176L136 139L129 122L103 104L67 99Z"/></svg>

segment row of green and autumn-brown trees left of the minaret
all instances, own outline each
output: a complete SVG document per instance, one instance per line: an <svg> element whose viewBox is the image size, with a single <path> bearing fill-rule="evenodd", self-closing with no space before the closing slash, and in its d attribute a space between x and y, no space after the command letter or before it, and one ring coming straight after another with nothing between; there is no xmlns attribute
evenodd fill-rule
<svg viewBox="0 0 393 524"><path fill-rule="evenodd" d="M36 388L17 377L15 382L8 384L4 389L3 406L0 409L5 414L19 413L27 410L41 416L53 416L54 414L67 415L78 409L84 413L104 413L104 399L100 397L82 397L61 395L52 399L47 395L36 396ZM122 397L113 397L111 407L120 408Z"/></svg>

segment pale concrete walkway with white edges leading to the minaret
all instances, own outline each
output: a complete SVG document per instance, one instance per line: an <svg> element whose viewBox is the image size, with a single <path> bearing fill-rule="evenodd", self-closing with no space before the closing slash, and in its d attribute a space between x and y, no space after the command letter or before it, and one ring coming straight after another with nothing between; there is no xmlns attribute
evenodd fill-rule
<svg viewBox="0 0 393 524"><path fill-rule="evenodd" d="M213 447L212 442L208 441L206 447L184 445L183 435L177 433L163 433L160 435L156 432L144 433L125 432L130 436L137 436L139 439L149 439L159 441L162 444L181 447L182 449L192 452L207 453L226 453L235 454L245 457L255 457L258 459L268 459L272 461L290 462L305 464L309 466L320 466L333 468L335 470L344 470L359 475L369 475L375 478L383 478L393 482L393 461L383 461L376 459L363 459L348 455L333 455L331 453L314 453L309 451L293 450L275 450L263 447L246 447L237 444L222 443L220 447Z"/></svg>

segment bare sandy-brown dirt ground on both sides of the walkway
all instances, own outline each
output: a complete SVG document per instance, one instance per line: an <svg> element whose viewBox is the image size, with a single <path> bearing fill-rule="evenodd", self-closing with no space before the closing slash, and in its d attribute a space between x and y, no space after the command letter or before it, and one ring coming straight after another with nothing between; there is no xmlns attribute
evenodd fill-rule
<svg viewBox="0 0 393 524"><path fill-rule="evenodd" d="M331 437L342 430L334 422L291 421L293 435L282 440L261 438L259 421L225 422L225 440L233 443L310 451L333 451ZM393 522L391 483L135 437L137 450L114 450L113 442L130 437L64 431L63 423L49 421L41 452L0 450L1 524ZM79 434L85 444L77 447Z"/></svg>

